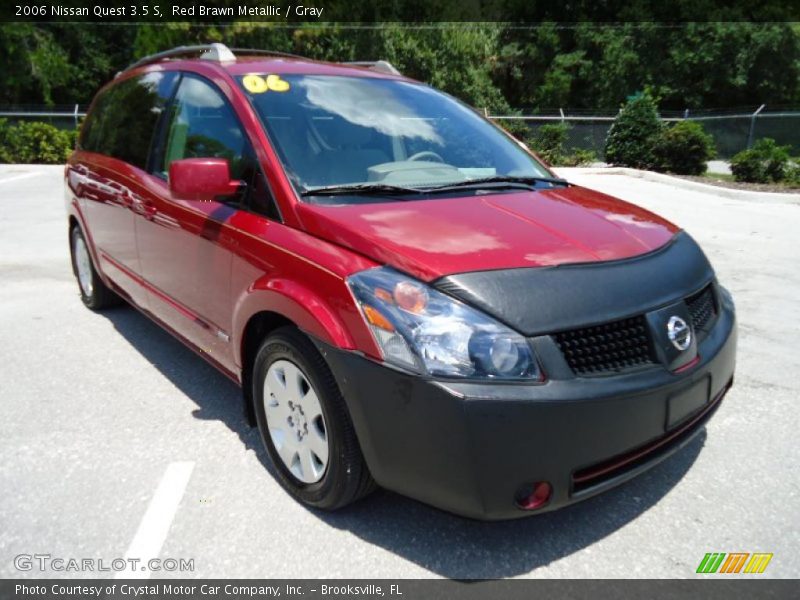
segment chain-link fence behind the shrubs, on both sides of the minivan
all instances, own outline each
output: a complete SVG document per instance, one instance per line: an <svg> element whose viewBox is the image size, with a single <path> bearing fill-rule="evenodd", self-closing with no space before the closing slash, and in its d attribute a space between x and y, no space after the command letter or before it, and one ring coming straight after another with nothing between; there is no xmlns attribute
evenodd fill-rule
<svg viewBox="0 0 800 600"><path fill-rule="evenodd" d="M0 107L0 119L13 124L18 121L44 121L59 129L72 129L78 126L86 114L86 105L70 104L59 106L5 106ZM547 123L567 123L567 146L593 151L598 158L603 157L608 129L614 122L615 112L556 109L535 115L491 115L490 119L499 124L522 122L534 136L537 130ZM684 119L697 121L714 138L717 157L730 159L761 138L769 137L779 145L790 146L793 156L800 156L800 110L770 109L762 105L749 110L735 112L715 111L663 111L661 118L666 122Z"/></svg>

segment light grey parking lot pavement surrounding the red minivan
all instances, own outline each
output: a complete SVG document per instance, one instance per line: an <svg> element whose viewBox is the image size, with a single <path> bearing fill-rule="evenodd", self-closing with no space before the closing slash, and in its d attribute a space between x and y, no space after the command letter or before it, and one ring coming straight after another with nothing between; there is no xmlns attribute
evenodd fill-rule
<svg viewBox="0 0 800 600"><path fill-rule="evenodd" d="M14 557L193 559L152 577L692 577L707 552L800 573L800 206L564 174L702 245L736 300L736 383L693 443L600 497L480 523L378 492L308 510L238 388L129 307L95 314L68 260L61 167L0 168L0 577ZM409 440L413 443L413 440Z"/></svg>

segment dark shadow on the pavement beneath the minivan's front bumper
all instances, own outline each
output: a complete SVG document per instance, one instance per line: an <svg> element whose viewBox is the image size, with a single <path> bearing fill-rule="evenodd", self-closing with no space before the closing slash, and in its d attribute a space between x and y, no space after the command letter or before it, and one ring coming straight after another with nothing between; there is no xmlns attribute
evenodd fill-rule
<svg viewBox="0 0 800 600"><path fill-rule="evenodd" d="M647 512L683 478L705 438L703 429L651 471L605 494L514 521L474 521L385 491L343 511L314 512L443 577L514 577L591 546Z"/></svg>

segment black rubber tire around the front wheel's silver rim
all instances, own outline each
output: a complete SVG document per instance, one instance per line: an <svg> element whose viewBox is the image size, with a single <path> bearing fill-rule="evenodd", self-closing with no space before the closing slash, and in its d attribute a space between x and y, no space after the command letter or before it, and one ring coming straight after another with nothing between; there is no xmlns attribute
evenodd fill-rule
<svg viewBox="0 0 800 600"><path fill-rule="evenodd" d="M294 363L317 394L328 437L328 465L322 479L303 483L286 467L276 450L267 426L264 408L264 380L271 364L278 360ZM252 398L261 439L275 466L278 481L297 500L315 508L336 510L375 489L350 414L325 359L314 344L295 327L281 327L261 344L253 365Z"/></svg>

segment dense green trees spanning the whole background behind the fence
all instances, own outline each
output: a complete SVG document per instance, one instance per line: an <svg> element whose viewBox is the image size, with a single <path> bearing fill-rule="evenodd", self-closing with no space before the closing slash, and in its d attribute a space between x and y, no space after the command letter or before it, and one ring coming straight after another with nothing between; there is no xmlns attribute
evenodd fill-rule
<svg viewBox="0 0 800 600"><path fill-rule="evenodd" d="M231 0L226 4L235 6ZM705 21L702 3L642 8L615 5L615 22L603 4L575 8L573 23L556 23L543 3L505 0L518 22L441 23L475 7L445 0L389 6L342 2L331 17L382 19L377 27L289 21L5 23L0 24L0 103L87 103L116 71L153 52L184 44L224 42L269 48L323 60L385 58L422 81L478 108L510 112L547 109L613 110L636 90L650 88L666 110L800 103L800 26L752 23L746 14ZM583 10L584 12L581 12ZM674 24L675 15L703 15ZM326 12L326 14L328 14ZM625 15L625 18L622 17ZM472 15L474 16L474 14ZM418 28L404 19L426 19ZM659 21L658 19L661 19ZM619 22L623 21L623 22ZM723 22L727 21L727 22Z"/></svg>

